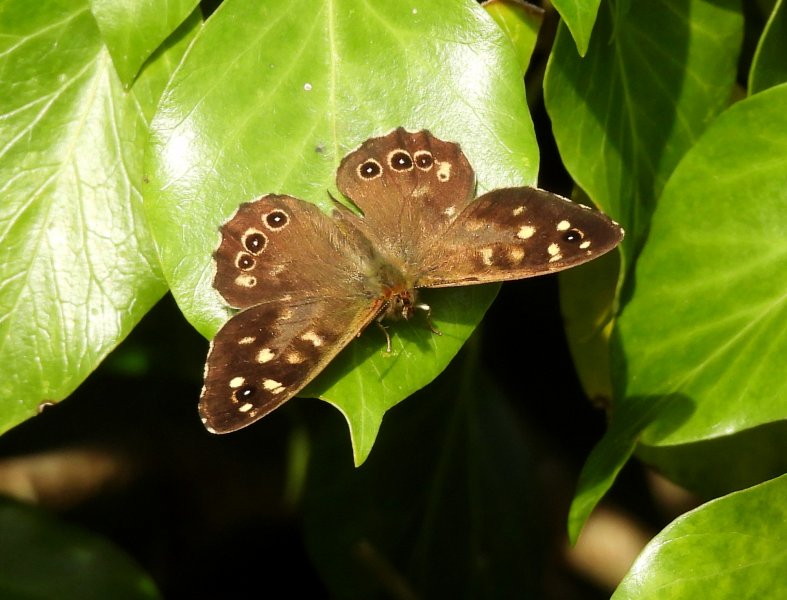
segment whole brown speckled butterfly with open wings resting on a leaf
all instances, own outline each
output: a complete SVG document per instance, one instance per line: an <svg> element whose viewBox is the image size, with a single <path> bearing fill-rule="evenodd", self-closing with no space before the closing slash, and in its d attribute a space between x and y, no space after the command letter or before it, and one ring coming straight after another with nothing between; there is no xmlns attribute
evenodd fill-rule
<svg viewBox="0 0 787 600"><path fill-rule="evenodd" d="M242 204L221 227L214 286L240 309L216 334L199 410L212 432L245 427L297 394L367 325L409 319L419 288L521 279L608 252L623 230L544 190L475 198L458 144L402 128L342 160L362 213L291 196Z"/></svg>

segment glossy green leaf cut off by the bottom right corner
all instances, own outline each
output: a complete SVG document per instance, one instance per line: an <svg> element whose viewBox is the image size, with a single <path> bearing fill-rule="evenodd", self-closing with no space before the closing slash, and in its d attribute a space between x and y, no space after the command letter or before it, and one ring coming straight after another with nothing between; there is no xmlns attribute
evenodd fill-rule
<svg viewBox="0 0 787 600"><path fill-rule="evenodd" d="M787 475L709 502L645 547L613 600L787 596Z"/></svg>

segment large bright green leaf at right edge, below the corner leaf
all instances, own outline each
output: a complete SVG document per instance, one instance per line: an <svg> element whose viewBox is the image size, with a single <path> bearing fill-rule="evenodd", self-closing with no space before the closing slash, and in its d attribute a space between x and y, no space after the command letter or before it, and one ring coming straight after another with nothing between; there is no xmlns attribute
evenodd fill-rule
<svg viewBox="0 0 787 600"><path fill-rule="evenodd" d="M625 399L679 394L647 444L787 415L787 85L726 111L664 189L619 320Z"/></svg>

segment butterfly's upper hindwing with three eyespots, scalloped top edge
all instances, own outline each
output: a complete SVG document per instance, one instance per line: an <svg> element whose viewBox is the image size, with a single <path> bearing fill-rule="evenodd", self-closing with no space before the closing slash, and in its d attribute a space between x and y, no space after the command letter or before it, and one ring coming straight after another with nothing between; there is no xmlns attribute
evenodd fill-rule
<svg viewBox="0 0 787 600"><path fill-rule="evenodd" d="M339 191L363 212L357 226L386 256L417 264L475 195L458 144L396 129L342 160Z"/></svg>

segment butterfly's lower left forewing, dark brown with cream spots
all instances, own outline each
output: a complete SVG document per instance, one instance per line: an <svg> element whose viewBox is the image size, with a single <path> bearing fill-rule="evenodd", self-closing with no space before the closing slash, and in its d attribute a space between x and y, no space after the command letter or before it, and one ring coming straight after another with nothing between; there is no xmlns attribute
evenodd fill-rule
<svg viewBox="0 0 787 600"><path fill-rule="evenodd" d="M356 298L266 302L216 334L199 412L214 433L250 425L295 396L374 319L380 306Z"/></svg>

